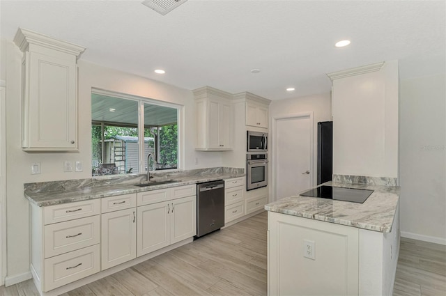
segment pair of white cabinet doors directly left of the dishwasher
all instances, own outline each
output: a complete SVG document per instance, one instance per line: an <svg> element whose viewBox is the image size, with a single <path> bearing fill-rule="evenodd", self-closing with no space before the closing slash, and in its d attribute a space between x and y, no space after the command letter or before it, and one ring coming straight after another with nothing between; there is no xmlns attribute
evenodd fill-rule
<svg viewBox="0 0 446 296"><path fill-rule="evenodd" d="M151 253L197 234L197 197L138 207L137 255Z"/></svg>

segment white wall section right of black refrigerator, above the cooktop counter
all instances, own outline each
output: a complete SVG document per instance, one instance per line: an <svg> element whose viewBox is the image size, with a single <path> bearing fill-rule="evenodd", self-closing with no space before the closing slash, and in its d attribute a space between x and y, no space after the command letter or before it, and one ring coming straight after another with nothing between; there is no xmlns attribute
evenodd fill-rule
<svg viewBox="0 0 446 296"><path fill-rule="evenodd" d="M332 104L333 174L397 178L398 61L334 79Z"/></svg>

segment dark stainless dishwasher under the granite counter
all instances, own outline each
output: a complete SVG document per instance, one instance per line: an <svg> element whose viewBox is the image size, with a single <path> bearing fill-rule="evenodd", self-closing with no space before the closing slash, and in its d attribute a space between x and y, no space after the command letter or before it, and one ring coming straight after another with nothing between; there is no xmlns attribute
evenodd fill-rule
<svg viewBox="0 0 446 296"><path fill-rule="evenodd" d="M197 184L197 236L224 226L224 181Z"/></svg>

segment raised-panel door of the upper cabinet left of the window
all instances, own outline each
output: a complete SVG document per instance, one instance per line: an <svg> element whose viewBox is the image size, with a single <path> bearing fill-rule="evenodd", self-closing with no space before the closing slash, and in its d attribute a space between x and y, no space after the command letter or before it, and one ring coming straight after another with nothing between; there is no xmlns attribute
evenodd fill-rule
<svg viewBox="0 0 446 296"><path fill-rule="evenodd" d="M29 53L23 148L77 149L76 58Z"/></svg>

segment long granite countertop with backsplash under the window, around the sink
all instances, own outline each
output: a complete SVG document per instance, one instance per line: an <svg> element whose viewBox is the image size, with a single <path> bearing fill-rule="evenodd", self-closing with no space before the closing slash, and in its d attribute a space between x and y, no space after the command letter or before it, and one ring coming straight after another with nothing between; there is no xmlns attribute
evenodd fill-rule
<svg viewBox="0 0 446 296"><path fill-rule="evenodd" d="M42 183L29 183L25 184L24 197L31 203L38 206L57 205L60 203L71 203L75 201L85 201L94 198L102 198L107 196L117 196L122 194L131 194L136 192L147 192L156 189L163 189L169 187L178 187L184 185L197 184L201 182L209 182L215 180L225 180L231 178L238 178L245 176L243 169L240 170L197 170L193 173L178 172L169 173L166 176L155 177L155 180L151 182L163 181L163 180L178 180L178 182L151 185L150 187L137 187L135 184L146 183L144 175L139 175L139 178L133 178L132 180L126 180L123 182L123 178L117 178L113 176L109 179L102 178L100 185L95 185L95 179L83 179L79 180L66 180L66 181L52 181ZM93 182L91 182L93 180ZM70 184L70 182L76 182L76 185ZM36 189L38 187L38 189ZM69 187L68 189L64 187Z"/></svg>

